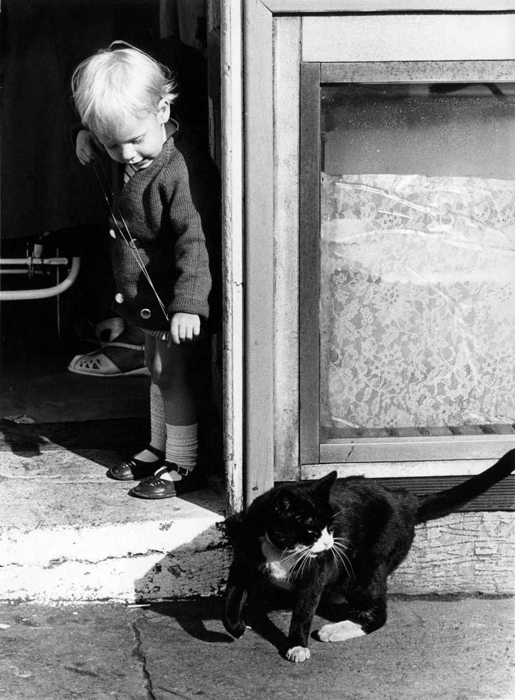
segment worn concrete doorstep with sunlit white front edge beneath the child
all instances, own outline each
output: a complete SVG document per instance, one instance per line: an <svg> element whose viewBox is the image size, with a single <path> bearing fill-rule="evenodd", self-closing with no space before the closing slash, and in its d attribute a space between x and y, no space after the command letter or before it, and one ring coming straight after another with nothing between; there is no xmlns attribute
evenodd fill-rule
<svg viewBox="0 0 515 700"><path fill-rule="evenodd" d="M157 600L216 594L229 552L223 494L130 498L115 451L3 451L0 601Z"/></svg>

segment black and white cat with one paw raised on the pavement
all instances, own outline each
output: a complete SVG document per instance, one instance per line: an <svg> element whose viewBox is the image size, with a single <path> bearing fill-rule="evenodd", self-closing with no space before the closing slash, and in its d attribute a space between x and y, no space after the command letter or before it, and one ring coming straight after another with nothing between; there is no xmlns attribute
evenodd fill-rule
<svg viewBox="0 0 515 700"><path fill-rule="evenodd" d="M310 484L276 486L251 504L235 528L225 629L234 637L244 633L244 603L262 580L294 595L289 661L309 659L320 601L344 598L348 605L347 619L316 633L323 642L379 629L386 622L386 580L409 552L415 526L449 514L513 470L515 450L462 484L424 497L348 477L339 482L338 503L330 499L337 472Z"/></svg>

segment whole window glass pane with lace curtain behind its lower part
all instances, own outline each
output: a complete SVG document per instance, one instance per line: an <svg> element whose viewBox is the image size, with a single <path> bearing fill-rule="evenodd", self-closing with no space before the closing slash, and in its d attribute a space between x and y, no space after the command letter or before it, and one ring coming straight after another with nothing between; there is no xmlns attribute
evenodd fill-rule
<svg viewBox="0 0 515 700"><path fill-rule="evenodd" d="M321 90L320 436L515 421L515 85Z"/></svg>

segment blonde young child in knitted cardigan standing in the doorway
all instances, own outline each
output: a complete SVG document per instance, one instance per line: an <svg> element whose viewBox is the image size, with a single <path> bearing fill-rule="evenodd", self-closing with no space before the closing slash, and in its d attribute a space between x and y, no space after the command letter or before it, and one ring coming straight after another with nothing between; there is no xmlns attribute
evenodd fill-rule
<svg viewBox="0 0 515 700"><path fill-rule="evenodd" d="M142 479L129 491L169 498L202 480L197 407L188 380L192 342L209 318L211 274L204 231L218 225L218 173L171 119L175 82L164 66L123 42L80 63L72 89L83 164L105 151L118 168L111 206L113 309L145 332L150 442L108 476Z"/></svg>

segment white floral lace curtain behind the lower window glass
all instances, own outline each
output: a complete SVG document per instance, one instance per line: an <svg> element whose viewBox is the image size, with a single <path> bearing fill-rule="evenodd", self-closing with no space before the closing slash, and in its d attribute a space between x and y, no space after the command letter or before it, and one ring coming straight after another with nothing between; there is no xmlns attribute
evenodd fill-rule
<svg viewBox="0 0 515 700"><path fill-rule="evenodd" d="M322 175L320 424L515 419L515 181Z"/></svg>

